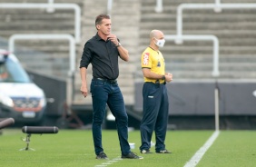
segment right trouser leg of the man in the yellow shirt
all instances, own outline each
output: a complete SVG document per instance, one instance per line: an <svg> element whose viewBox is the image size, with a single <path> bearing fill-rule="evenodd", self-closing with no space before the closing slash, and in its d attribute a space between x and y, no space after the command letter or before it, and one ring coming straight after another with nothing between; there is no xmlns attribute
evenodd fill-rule
<svg viewBox="0 0 256 167"><path fill-rule="evenodd" d="M168 114L169 114L169 100L166 86L164 84L161 85L162 97L161 106L157 116L157 120L155 123L155 151L159 152L165 149L165 136L167 131L168 124Z"/></svg>

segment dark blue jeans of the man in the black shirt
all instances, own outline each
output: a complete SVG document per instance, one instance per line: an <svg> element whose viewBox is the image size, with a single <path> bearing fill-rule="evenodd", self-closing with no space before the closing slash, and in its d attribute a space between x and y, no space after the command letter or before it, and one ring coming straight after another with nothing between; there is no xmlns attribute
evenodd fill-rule
<svg viewBox="0 0 256 167"><path fill-rule="evenodd" d="M123 102L123 94L117 82L93 79L91 83L93 98L93 136L96 155L103 152L102 123L105 118L106 103L108 104L117 127L118 137L123 155L130 153L128 142L128 116Z"/></svg>

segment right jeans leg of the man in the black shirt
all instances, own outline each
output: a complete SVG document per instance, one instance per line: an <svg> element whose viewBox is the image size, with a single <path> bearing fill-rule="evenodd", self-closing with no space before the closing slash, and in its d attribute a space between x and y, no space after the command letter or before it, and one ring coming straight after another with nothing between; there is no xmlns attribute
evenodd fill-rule
<svg viewBox="0 0 256 167"><path fill-rule="evenodd" d="M111 88L112 93L109 94L107 103L115 117L121 152L126 155L131 152L128 142L128 116L123 102L123 94L118 84L111 84Z"/></svg>

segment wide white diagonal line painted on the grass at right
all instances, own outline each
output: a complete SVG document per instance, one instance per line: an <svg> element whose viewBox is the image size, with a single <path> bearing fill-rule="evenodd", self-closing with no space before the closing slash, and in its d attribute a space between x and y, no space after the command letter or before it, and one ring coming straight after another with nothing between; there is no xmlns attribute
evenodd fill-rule
<svg viewBox="0 0 256 167"><path fill-rule="evenodd" d="M212 136L208 139L207 142L203 144L203 146L195 152L195 154L192 156L191 160L185 164L184 167L194 167L197 165L198 162L202 159L202 156L205 152L211 147L212 143L217 139L219 136L219 131L215 131Z"/></svg>

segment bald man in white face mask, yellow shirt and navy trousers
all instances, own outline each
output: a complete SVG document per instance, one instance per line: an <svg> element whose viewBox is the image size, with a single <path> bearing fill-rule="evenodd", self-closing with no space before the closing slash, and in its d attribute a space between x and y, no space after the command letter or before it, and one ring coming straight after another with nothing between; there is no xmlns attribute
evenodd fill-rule
<svg viewBox="0 0 256 167"><path fill-rule="evenodd" d="M172 81L172 74L165 72L164 59L159 51L165 43L159 30L150 33L150 45L142 54L143 120L141 123L141 153L150 152L153 131L155 132L155 152L171 153L165 148L169 101L165 84Z"/></svg>

